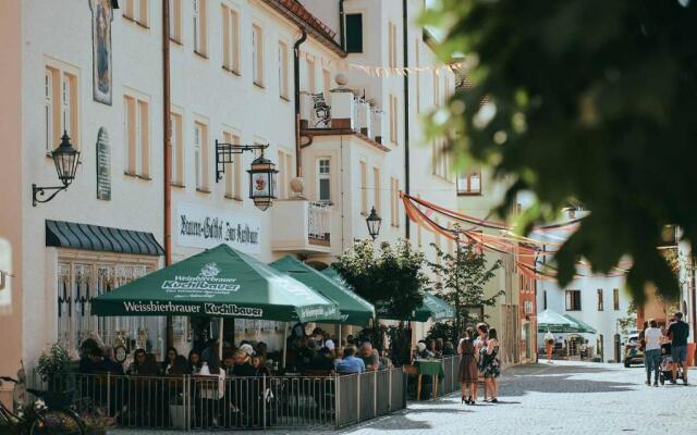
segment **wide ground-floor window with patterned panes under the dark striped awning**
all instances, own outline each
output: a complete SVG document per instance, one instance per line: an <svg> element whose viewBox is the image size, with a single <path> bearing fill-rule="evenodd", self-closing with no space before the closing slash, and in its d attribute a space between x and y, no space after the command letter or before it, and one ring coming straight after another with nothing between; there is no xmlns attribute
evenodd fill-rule
<svg viewBox="0 0 697 435"><path fill-rule="evenodd" d="M162 318L91 315L91 301L95 297L154 272L157 264L157 257L91 256L86 251L76 257L75 253L63 256L59 249L56 282L58 312L54 326L58 341L77 355L80 344L93 333L98 333L107 346L117 346L122 334L129 340L138 340L143 338L140 334L147 332L147 341L154 346L151 350L160 353L164 339Z"/></svg>

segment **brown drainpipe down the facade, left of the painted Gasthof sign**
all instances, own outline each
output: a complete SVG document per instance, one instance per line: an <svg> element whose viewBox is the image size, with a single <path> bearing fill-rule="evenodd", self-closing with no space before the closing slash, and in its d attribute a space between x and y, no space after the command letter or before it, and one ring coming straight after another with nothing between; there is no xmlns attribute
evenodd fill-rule
<svg viewBox="0 0 697 435"><path fill-rule="evenodd" d="M162 136L164 176L162 177L164 188L164 266L172 264L172 220L170 213L172 209L172 140L170 125L170 2L162 0ZM172 316L167 316L167 347L173 346L174 330L172 327Z"/></svg>

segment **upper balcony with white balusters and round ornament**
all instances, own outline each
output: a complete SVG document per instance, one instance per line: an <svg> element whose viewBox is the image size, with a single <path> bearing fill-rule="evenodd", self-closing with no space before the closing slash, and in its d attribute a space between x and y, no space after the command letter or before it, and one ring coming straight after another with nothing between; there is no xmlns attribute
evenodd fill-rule
<svg viewBox="0 0 697 435"><path fill-rule="evenodd" d="M382 111L350 89L301 92L301 129L304 136L356 134L382 144Z"/></svg>

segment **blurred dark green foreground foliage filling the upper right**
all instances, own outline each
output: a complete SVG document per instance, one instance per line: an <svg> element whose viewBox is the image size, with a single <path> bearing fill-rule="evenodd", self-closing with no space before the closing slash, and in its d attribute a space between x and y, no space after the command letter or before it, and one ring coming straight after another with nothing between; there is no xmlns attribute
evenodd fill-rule
<svg viewBox="0 0 697 435"><path fill-rule="evenodd" d="M560 249L559 281L582 258L609 272L633 260L627 284L674 299L657 251L664 225L697 243L697 1L436 0L424 20L438 48L465 55L472 86L432 114L460 162L491 165L537 204L522 228L578 201L591 213Z"/></svg>

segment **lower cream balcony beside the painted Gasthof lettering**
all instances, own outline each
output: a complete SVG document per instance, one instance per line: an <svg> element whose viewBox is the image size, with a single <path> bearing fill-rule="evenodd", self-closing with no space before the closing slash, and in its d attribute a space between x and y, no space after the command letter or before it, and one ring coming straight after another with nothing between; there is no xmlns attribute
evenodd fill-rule
<svg viewBox="0 0 697 435"><path fill-rule="evenodd" d="M305 199L277 200L271 208L271 250L331 251L331 208Z"/></svg>

